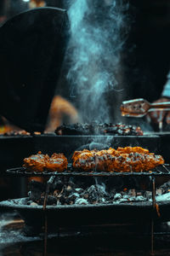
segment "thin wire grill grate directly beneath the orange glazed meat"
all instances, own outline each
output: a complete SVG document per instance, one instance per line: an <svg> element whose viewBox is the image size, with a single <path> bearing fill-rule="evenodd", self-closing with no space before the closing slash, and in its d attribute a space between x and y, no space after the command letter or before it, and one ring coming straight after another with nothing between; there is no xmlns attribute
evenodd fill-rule
<svg viewBox="0 0 170 256"><path fill-rule="evenodd" d="M8 174L15 176L40 176L40 177L50 177L50 176L91 176L91 177L114 177L114 176L170 176L170 165L164 164L157 166L155 169L149 172L75 172L72 169L71 164L68 165L68 170L65 172L29 172L24 167L17 167L8 169L6 171Z"/></svg>

